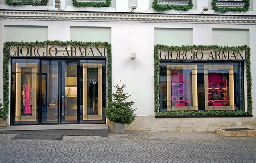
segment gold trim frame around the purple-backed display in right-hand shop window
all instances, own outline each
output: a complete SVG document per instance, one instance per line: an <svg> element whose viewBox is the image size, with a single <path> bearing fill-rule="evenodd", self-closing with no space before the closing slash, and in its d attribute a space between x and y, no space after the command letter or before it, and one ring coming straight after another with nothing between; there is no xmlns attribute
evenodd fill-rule
<svg viewBox="0 0 256 163"><path fill-rule="evenodd" d="M171 71L174 69L187 69L192 70L192 106L176 107L172 106L171 100ZM197 97L197 66L196 65L167 65L167 111L181 111L181 110L198 110L198 97Z"/></svg>

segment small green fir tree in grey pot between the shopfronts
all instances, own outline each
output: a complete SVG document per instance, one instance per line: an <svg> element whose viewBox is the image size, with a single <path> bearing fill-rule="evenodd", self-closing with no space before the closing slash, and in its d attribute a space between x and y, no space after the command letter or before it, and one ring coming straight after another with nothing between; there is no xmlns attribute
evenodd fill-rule
<svg viewBox="0 0 256 163"><path fill-rule="evenodd" d="M113 85L116 88L116 93L113 93L113 101L108 102L107 108L104 110L106 117L115 123L115 132L122 134L125 132L125 124L131 124L136 116L134 111L136 109L131 108L135 102L126 99L130 97L127 93L124 93L124 88L127 87L126 84L121 86L120 84Z"/></svg>

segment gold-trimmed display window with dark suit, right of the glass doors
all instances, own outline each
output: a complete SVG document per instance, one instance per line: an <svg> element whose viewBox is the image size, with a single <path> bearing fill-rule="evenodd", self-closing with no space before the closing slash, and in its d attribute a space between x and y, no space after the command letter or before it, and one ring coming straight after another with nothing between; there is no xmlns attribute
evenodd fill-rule
<svg viewBox="0 0 256 163"><path fill-rule="evenodd" d="M103 121L106 106L105 61L81 60L80 121Z"/></svg>

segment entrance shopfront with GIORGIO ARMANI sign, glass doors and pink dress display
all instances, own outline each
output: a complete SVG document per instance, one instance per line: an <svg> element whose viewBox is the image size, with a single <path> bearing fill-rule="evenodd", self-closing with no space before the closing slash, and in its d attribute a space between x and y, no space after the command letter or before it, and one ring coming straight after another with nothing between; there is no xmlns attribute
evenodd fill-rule
<svg viewBox="0 0 256 163"><path fill-rule="evenodd" d="M11 124L106 123L106 47L10 46L8 53Z"/></svg>

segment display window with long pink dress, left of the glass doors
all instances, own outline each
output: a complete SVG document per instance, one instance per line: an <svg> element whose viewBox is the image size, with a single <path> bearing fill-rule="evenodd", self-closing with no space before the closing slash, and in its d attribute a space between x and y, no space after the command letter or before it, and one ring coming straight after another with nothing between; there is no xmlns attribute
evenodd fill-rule
<svg viewBox="0 0 256 163"><path fill-rule="evenodd" d="M12 60L12 121L38 123L38 60Z"/></svg>

